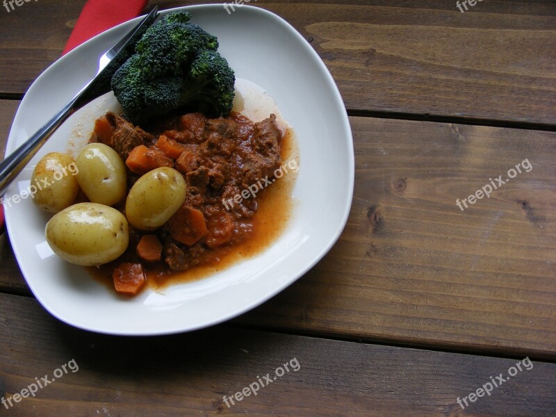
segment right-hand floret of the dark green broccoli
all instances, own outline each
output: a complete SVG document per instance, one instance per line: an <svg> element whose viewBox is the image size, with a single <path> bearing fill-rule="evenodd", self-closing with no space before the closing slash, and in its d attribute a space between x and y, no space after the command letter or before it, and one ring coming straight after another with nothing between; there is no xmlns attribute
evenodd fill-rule
<svg viewBox="0 0 556 417"><path fill-rule="evenodd" d="M204 49L191 64L181 104L195 103L207 115L227 115L234 101L234 71L216 51Z"/></svg>

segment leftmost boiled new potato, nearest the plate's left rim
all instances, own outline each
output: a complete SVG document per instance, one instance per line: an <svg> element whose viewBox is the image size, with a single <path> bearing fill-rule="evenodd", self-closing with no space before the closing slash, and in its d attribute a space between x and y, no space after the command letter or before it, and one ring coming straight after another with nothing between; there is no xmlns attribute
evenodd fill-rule
<svg viewBox="0 0 556 417"><path fill-rule="evenodd" d="M33 203L49 213L71 206L79 193L74 159L61 152L51 152L42 157L31 176L29 189Z"/></svg>

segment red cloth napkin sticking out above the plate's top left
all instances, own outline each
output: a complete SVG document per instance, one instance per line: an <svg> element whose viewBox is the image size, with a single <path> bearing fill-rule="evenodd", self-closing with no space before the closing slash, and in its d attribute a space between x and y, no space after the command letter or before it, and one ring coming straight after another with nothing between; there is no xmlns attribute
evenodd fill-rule
<svg viewBox="0 0 556 417"><path fill-rule="evenodd" d="M133 19L133 17L138 17L146 5L147 0L87 1L62 55L107 29Z"/></svg>

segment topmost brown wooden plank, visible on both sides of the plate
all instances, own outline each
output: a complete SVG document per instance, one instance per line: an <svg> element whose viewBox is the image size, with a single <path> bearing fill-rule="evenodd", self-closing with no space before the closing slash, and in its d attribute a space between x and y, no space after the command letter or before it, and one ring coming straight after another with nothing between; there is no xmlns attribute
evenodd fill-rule
<svg viewBox="0 0 556 417"><path fill-rule="evenodd" d="M0 94L23 93L60 56L83 3L42 0L4 13ZM199 1L152 1L188 3ZM556 123L553 1L487 1L466 13L452 0L252 3L311 40L350 111Z"/></svg>

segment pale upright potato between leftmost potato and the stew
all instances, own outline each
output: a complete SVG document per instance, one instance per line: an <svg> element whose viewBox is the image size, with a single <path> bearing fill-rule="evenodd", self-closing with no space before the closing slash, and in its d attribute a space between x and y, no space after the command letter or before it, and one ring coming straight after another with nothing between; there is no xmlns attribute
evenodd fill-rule
<svg viewBox="0 0 556 417"><path fill-rule="evenodd" d="M75 163L79 168L77 181L93 203L112 206L126 195L126 167L120 155L103 143L83 148Z"/></svg>

